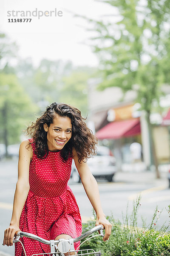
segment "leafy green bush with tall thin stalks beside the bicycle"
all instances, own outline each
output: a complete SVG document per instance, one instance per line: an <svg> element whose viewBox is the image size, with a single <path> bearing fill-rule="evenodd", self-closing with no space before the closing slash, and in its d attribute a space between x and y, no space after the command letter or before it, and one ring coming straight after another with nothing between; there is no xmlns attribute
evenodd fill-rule
<svg viewBox="0 0 170 256"><path fill-rule="evenodd" d="M107 217L113 225L109 241L103 242L100 236L96 236L84 244L81 249L94 249L101 251L102 256L170 256L170 234L165 233L165 225L156 230L158 215L156 208L149 226L138 227L137 213L140 206L140 197L133 203L133 211L129 215L128 207L123 223L113 216ZM85 233L95 225L94 221L83 224L82 232ZM96 234L92 234L94 236Z"/></svg>

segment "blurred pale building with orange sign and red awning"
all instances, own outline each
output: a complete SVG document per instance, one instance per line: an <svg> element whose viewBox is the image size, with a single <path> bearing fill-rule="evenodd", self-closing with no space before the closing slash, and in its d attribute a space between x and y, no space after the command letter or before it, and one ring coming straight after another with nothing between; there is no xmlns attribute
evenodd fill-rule
<svg viewBox="0 0 170 256"><path fill-rule="evenodd" d="M130 91L123 97L121 89L117 87L98 91L98 83L99 80L95 79L89 82L88 120L99 138L99 143L110 147L117 159L119 169L121 169L122 163L133 161L130 145L133 142L141 144L141 161L145 163L147 169L150 169L153 160L148 127L144 111L139 111L140 105L135 103L136 93ZM168 127L161 125L160 115L157 115L158 119L159 122L155 123L153 127L156 156L159 163L169 163Z"/></svg>

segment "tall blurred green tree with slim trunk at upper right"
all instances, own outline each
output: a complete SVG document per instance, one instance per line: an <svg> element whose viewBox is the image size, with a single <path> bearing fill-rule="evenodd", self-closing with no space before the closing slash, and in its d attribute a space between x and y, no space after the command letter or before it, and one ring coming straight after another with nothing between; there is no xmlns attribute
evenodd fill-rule
<svg viewBox="0 0 170 256"><path fill-rule="evenodd" d="M159 104L162 84L170 83L170 1L99 2L108 4L112 11L104 20L88 19L96 33L91 42L100 60L99 89L115 86L124 93L136 91L136 101L146 113L150 151L159 177L150 113L153 101Z"/></svg>

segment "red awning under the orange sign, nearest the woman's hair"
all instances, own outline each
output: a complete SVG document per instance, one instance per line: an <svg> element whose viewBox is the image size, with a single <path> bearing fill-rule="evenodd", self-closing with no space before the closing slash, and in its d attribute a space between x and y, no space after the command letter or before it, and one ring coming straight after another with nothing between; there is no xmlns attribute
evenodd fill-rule
<svg viewBox="0 0 170 256"><path fill-rule="evenodd" d="M135 136L141 133L140 120L134 118L130 120L111 122L96 132L99 140L119 139L121 137Z"/></svg>

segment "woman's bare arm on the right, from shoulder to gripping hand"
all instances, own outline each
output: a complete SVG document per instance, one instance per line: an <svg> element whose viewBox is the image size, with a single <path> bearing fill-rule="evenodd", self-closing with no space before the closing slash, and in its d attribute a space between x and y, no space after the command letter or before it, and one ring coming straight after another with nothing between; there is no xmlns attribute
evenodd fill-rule
<svg viewBox="0 0 170 256"><path fill-rule="evenodd" d="M83 161L81 161L81 163L79 163L77 152L75 151L75 149L73 149L73 159L81 177L85 192L96 212L96 225L102 224L105 226L105 236L103 238L103 241L106 241L111 235L112 225L105 218L105 214L102 210L97 182L94 176L91 174L87 162L84 163Z"/></svg>

